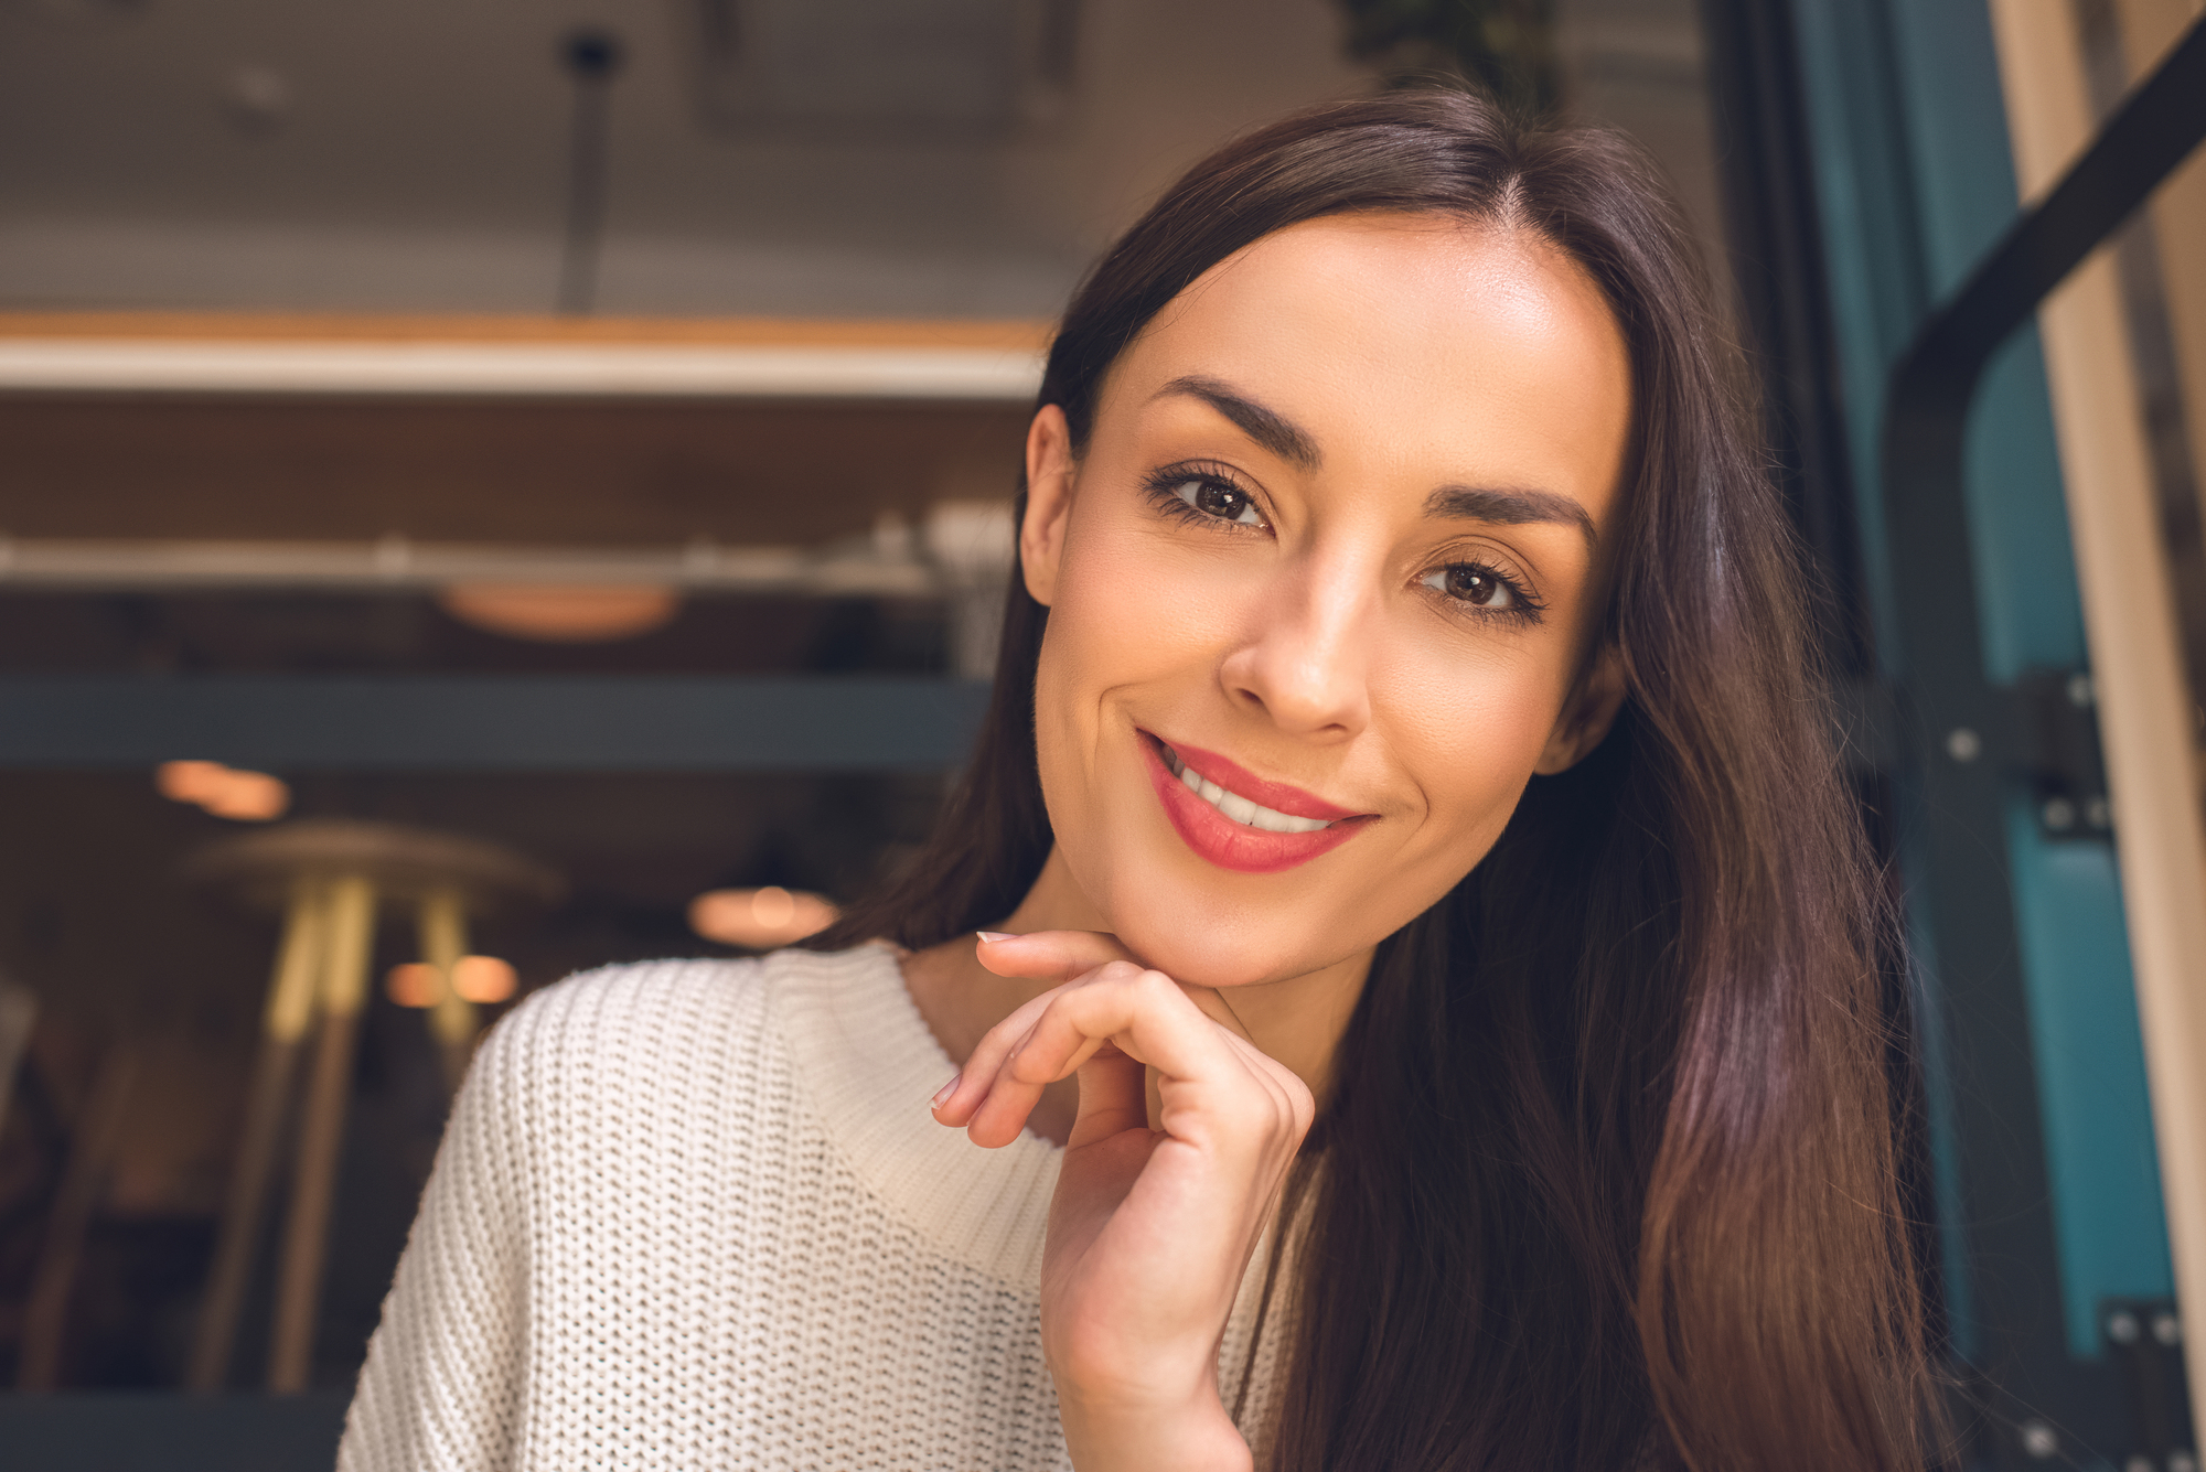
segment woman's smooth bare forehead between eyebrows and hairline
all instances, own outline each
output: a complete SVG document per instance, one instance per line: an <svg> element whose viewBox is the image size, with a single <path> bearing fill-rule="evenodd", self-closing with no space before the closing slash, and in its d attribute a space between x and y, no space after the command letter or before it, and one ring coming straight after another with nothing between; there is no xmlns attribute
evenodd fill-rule
<svg viewBox="0 0 2206 1472"><path fill-rule="evenodd" d="M1308 430L1328 465L1613 500L1630 361L1599 286L1531 231L1335 216L1275 231L1160 311L1105 381L1107 419L1213 377Z"/></svg>

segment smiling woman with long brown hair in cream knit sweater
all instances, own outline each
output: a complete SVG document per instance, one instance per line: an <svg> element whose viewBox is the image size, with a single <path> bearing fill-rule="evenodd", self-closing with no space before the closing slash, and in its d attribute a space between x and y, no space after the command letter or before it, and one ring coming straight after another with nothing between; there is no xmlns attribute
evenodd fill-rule
<svg viewBox="0 0 2206 1472"><path fill-rule="evenodd" d="M1886 926L1714 322L1604 134L1189 172L1050 350L933 846L496 1031L344 1465L1921 1468Z"/></svg>

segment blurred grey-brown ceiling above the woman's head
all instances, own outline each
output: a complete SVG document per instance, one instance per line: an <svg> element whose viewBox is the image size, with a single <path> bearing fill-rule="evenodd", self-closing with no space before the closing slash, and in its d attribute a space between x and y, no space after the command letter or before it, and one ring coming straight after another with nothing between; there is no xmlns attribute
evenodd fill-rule
<svg viewBox="0 0 2206 1472"><path fill-rule="evenodd" d="M1557 0L1710 242L1692 0ZM596 306L1048 317L1218 139L1363 90L1335 0L0 0L0 309L547 311L576 26Z"/></svg>

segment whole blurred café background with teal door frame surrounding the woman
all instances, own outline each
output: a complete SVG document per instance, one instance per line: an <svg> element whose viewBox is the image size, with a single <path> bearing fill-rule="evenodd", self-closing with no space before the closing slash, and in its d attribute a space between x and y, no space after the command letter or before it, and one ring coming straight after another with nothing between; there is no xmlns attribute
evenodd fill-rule
<svg viewBox="0 0 2206 1472"><path fill-rule="evenodd" d="M1085 264L1443 79L1637 137L1763 375L1966 1465L2195 1472L2195 18L0 0L0 1459L326 1465L479 1031L924 837Z"/></svg>

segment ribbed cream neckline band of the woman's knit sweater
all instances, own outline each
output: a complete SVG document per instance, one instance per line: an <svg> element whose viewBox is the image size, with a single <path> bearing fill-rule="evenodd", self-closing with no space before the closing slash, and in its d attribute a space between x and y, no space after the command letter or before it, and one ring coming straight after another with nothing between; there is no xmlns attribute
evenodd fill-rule
<svg viewBox="0 0 2206 1472"><path fill-rule="evenodd" d="M957 1064L904 987L896 948L765 959L799 1089L860 1181L944 1254L1037 1291L1063 1150L1024 1130L984 1150L935 1124L929 1102Z"/></svg>

